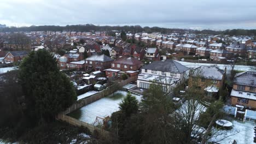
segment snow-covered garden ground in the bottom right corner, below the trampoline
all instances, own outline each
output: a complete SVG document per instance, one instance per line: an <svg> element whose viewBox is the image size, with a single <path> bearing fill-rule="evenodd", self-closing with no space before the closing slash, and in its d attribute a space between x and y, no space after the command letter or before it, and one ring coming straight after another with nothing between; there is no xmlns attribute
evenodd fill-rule
<svg viewBox="0 0 256 144"><path fill-rule="evenodd" d="M232 124L233 126L231 130L219 130L216 136L213 136L209 141L223 144L232 143L234 140L236 140L236 142L239 144L254 143L253 137L255 124L249 122L242 123L235 120L232 121ZM216 129L214 129L213 131L216 131Z"/></svg>

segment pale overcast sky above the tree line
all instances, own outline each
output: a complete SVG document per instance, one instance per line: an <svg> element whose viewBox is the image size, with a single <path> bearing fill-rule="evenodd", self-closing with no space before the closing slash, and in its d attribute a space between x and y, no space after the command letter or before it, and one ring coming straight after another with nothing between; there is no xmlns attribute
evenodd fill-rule
<svg viewBox="0 0 256 144"><path fill-rule="evenodd" d="M256 29L256 0L0 0L0 24Z"/></svg>

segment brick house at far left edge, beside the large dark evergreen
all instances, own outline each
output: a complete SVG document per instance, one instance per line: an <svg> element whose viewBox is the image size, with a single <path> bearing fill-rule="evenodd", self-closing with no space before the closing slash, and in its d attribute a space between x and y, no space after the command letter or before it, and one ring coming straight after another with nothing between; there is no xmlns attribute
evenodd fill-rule
<svg viewBox="0 0 256 144"><path fill-rule="evenodd" d="M27 51L9 51L4 57L4 63L20 62L27 55Z"/></svg>

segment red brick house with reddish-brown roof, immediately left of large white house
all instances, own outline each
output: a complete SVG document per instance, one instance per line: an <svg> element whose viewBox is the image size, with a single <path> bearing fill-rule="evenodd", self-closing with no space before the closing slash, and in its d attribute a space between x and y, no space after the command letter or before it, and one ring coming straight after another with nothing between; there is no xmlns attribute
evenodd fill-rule
<svg viewBox="0 0 256 144"><path fill-rule="evenodd" d="M132 77L138 75L138 70L141 68L141 64L142 62L138 61L136 58L123 56L112 62L110 69L105 69L104 71L106 71L106 76L108 77L120 78L123 74Z"/></svg>

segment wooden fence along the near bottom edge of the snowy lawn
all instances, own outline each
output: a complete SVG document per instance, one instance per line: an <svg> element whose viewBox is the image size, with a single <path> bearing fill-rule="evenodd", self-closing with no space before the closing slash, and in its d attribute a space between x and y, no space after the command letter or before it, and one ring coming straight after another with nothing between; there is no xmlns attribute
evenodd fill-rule
<svg viewBox="0 0 256 144"><path fill-rule="evenodd" d="M100 134L100 136L102 136L106 139L109 139L109 137L110 137L110 132L109 131L104 130L104 129L99 128L99 127L95 127L94 125L91 125L89 123L79 121L78 119L75 119L73 117L69 117L69 116L66 116L66 115L59 114L59 115L56 116L56 118L61 120L61 121L72 124L76 127L86 127L91 131L91 133L94 133L95 130L96 130L98 132L98 134Z"/></svg>

